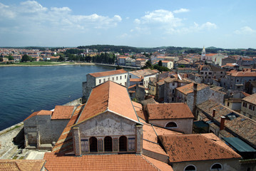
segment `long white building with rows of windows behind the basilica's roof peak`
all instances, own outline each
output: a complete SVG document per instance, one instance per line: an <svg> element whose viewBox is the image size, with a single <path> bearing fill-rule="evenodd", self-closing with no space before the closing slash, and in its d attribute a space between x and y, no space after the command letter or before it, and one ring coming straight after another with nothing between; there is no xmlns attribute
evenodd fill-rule
<svg viewBox="0 0 256 171"><path fill-rule="evenodd" d="M93 87L105 83L106 81L113 81L123 86L127 86L128 72L121 69L87 74L86 82L83 82L83 103L88 99Z"/></svg>

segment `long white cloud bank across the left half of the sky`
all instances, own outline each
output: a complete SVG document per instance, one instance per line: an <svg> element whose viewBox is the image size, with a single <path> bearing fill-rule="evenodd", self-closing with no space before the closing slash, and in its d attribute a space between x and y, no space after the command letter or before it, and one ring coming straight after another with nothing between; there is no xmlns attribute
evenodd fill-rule
<svg viewBox="0 0 256 171"><path fill-rule="evenodd" d="M6 6L0 3L0 20L9 22L6 19L13 18L12 26L18 26L23 29L26 25L27 29L36 31L36 28L48 28L49 31L56 29L63 30L83 30L91 28L111 28L117 26L122 21L121 16L113 17L100 16L98 14L91 15L73 15L72 10L68 7L51 7L46 8L37 1L23 1L19 6ZM3 26L4 24L2 24ZM5 26L6 27L6 26ZM1 26L0 26L1 28Z"/></svg>

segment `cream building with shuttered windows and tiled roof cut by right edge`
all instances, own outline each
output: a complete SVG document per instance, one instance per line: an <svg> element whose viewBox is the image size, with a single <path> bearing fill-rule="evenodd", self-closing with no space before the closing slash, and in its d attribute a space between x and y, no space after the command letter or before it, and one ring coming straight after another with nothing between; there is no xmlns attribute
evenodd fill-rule
<svg viewBox="0 0 256 171"><path fill-rule="evenodd" d="M242 98L241 114L256 120L256 93Z"/></svg>

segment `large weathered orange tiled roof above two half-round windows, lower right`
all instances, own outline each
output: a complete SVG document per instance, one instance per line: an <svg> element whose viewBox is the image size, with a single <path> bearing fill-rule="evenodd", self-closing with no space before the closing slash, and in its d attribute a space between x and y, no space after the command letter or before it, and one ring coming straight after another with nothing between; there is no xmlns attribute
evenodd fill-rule
<svg viewBox="0 0 256 171"><path fill-rule="evenodd" d="M200 134L160 135L160 141L168 152L170 162L217 160L240 158L233 150L227 150Z"/></svg>

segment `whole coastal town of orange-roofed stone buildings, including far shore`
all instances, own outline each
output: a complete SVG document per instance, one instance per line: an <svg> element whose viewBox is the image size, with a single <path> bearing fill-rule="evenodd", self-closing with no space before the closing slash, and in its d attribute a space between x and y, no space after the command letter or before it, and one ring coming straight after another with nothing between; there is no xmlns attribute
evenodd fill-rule
<svg viewBox="0 0 256 171"><path fill-rule="evenodd" d="M76 105L24 118L24 149L43 155L6 157L0 170L256 170L256 52L239 53L0 48L3 66L116 66L89 73Z"/></svg>

